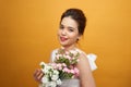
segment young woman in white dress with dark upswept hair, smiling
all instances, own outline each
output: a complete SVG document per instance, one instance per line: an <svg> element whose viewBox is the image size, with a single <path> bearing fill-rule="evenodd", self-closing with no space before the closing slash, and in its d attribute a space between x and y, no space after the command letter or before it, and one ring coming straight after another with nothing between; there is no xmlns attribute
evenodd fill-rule
<svg viewBox="0 0 131 87"><path fill-rule="evenodd" d="M86 17L80 9L68 9L60 20L60 27L58 29L58 39L62 48L58 48L52 51L51 61L55 60L55 53L59 49L64 51L78 50L80 52L79 62L76 67L79 69L79 77L71 80L66 80L60 87L95 87L95 82L92 75L92 70L96 69L94 63L95 55L87 55L84 51L76 47L76 44L81 36L84 34L86 25ZM34 78L40 83L43 72L38 69L34 73Z"/></svg>

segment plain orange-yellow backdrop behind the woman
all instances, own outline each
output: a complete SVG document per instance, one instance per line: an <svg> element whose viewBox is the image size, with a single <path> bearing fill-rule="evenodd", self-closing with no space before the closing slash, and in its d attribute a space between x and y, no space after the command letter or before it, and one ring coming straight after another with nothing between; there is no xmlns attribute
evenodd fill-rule
<svg viewBox="0 0 131 87"><path fill-rule="evenodd" d="M131 87L130 0L0 0L0 87L37 87L33 73L59 47L69 8L88 18L80 47L98 55L97 87Z"/></svg>

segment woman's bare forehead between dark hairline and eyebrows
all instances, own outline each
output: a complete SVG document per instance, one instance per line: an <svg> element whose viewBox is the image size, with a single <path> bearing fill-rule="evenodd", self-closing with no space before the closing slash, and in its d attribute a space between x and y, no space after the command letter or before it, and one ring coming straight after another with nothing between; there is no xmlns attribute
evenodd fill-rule
<svg viewBox="0 0 131 87"><path fill-rule="evenodd" d="M61 21L61 25L66 27L73 27L78 28L78 23L75 20L73 20L71 16L63 17Z"/></svg>

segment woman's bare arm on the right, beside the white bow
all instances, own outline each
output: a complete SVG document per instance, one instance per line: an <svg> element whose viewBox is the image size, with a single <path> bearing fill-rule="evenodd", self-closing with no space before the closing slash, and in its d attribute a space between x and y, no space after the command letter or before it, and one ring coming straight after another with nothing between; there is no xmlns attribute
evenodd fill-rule
<svg viewBox="0 0 131 87"><path fill-rule="evenodd" d="M80 70L81 87L96 87L90 67L90 62L84 53L80 54L78 69Z"/></svg>

